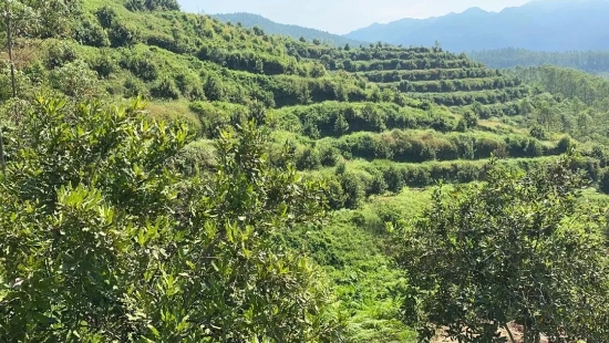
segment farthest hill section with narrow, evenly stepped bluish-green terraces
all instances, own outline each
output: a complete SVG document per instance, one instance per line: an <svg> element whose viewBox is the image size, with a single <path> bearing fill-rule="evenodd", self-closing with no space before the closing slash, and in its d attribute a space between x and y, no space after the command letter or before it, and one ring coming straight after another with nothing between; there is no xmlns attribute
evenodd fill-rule
<svg viewBox="0 0 609 343"><path fill-rule="evenodd" d="M396 48L386 44L293 49L304 60L321 61L327 70L347 71L409 97L445 105L456 112L474 110L482 118L526 114L522 100L538 92L518 77L454 54L442 48Z"/></svg>

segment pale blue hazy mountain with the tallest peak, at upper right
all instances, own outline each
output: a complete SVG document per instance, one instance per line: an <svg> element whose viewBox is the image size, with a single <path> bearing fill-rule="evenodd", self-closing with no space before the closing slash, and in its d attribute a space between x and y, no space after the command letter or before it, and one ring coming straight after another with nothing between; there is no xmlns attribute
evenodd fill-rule
<svg viewBox="0 0 609 343"><path fill-rule="evenodd" d="M500 12L472 8L430 19L374 23L348 33L360 41L433 45L455 52L519 48L609 50L609 0L544 0Z"/></svg>

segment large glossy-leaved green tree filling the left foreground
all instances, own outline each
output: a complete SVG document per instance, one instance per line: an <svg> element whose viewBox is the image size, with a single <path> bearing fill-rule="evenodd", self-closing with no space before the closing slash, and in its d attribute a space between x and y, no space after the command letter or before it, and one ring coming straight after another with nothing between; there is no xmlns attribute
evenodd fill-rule
<svg viewBox="0 0 609 343"><path fill-rule="evenodd" d="M189 179L185 126L40 97L0 173L0 341L340 342L323 278L272 239L324 201L266 136L224 134Z"/></svg>

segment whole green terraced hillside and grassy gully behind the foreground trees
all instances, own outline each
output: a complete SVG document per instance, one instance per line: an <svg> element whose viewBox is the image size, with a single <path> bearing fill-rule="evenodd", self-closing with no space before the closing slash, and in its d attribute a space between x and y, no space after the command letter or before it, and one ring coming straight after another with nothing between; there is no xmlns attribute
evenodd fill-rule
<svg viewBox="0 0 609 343"><path fill-rule="evenodd" d="M310 257L322 270L347 342L415 340L394 297L407 280L388 254L384 226L417 216L430 200L427 187L484 179L493 156L529 170L578 144L558 125L546 125L558 119L548 119L550 101L543 98L558 97L464 54L438 46L338 49L146 7L153 2L87 0L60 37L19 38L20 97L58 92L76 103L141 95L149 101L148 115L184 121L194 132L175 163L185 179L217 172L226 157L213 144L220 129L255 121L267 133L272 167L286 168L288 156L306 179L327 185L326 224L297 226L272 240L278 251ZM10 84L8 67L0 84ZM6 89L0 103L9 118L13 102ZM11 156L14 147L7 146ZM606 147L579 148L574 167L602 180ZM255 308L223 313L255 325L248 312ZM210 335L220 334L218 325L210 324Z"/></svg>

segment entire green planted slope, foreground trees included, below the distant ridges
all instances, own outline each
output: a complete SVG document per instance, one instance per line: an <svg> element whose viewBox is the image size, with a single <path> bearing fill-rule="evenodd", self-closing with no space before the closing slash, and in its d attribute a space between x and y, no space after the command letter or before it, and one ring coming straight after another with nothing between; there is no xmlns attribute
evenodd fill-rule
<svg viewBox="0 0 609 343"><path fill-rule="evenodd" d="M174 0L0 15L0 341L609 339L608 81Z"/></svg>

